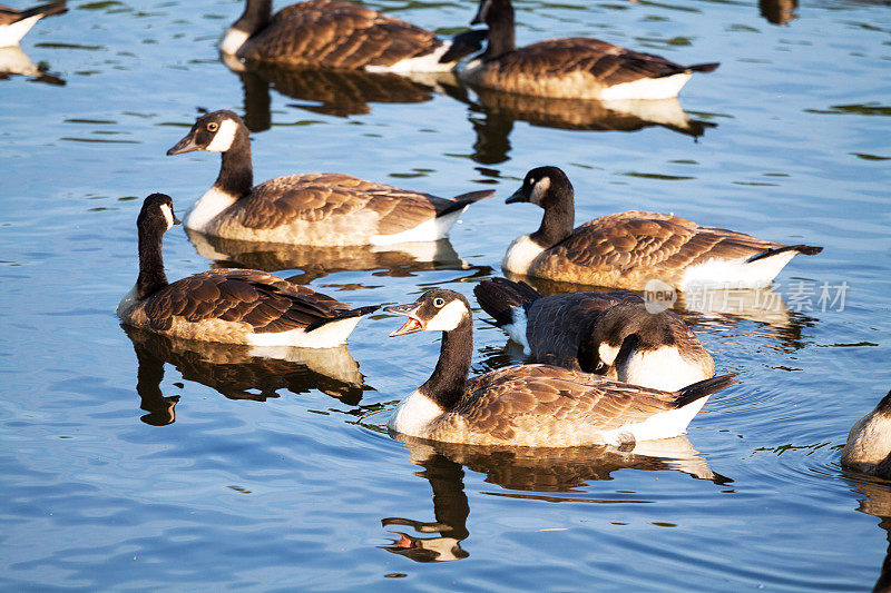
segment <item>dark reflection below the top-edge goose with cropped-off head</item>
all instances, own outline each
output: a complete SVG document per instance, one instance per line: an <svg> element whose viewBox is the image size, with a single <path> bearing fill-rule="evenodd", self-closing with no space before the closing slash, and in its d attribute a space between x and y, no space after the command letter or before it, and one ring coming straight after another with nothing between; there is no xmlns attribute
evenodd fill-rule
<svg viewBox="0 0 891 593"><path fill-rule="evenodd" d="M302 102L291 103L313 113L347 117L371 111L370 103L421 103L433 98L440 82L453 85L454 76L443 73L394 75L325 68L281 68L245 65L223 57L229 70L242 79L244 121L251 131L272 126L270 87Z"/></svg>

